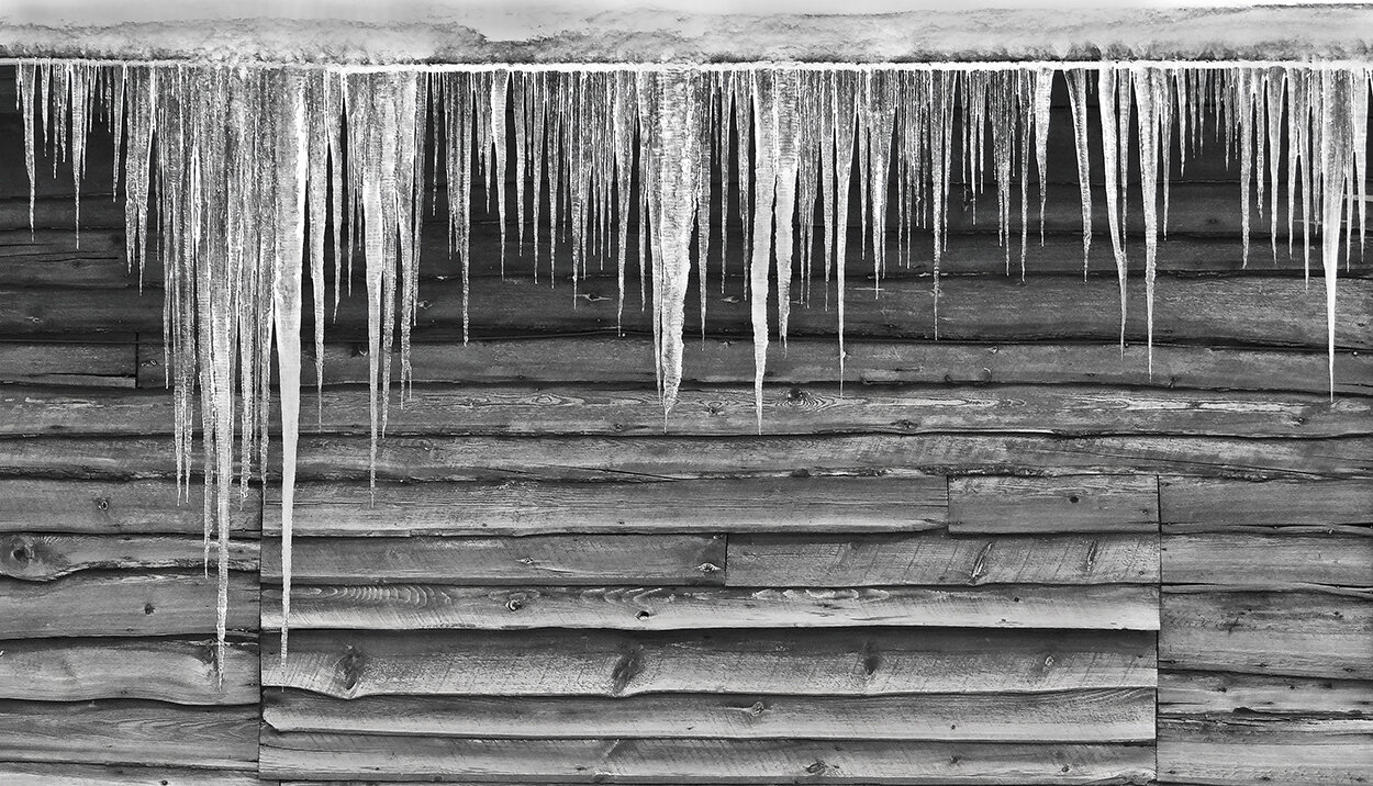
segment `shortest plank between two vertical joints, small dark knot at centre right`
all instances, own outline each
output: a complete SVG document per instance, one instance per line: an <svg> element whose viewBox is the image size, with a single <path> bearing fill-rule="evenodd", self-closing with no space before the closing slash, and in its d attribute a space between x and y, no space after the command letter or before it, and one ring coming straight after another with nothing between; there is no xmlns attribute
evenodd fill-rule
<svg viewBox="0 0 1373 786"><path fill-rule="evenodd" d="M950 477L949 531L1156 532L1159 481L1153 476Z"/></svg>

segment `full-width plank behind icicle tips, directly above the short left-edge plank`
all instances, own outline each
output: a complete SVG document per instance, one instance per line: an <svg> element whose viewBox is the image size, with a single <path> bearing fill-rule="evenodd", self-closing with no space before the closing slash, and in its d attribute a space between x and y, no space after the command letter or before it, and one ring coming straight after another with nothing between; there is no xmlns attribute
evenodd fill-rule
<svg viewBox="0 0 1373 786"><path fill-rule="evenodd" d="M1145 340L1142 287L1130 289L1126 340ZM1119 289L1115 281L1072 277L1031 278L1022 285L1009 278L949 278L941 287L939 336L976 342L1087 340L1112 342L1120 335ZM1340 284L1336 346L1373 347L1373 281ZM853 292L846 333L853 337L927 339L934 336L934 298L930 283L890 281L880 296ZM420 289L423 307L416 317L416 340L461 336L463 288L459 281ZM688 313L696 306L688 296ZM365 335L367 309L361 294L341 305L327 331L335 337ZM575 303L575 307L574 307ZM751 335L750 303L737 296L711 296L707 329L711 335ZM479 278L471 285L472 332L478 337L511 335L615 331L614 285L549 288L526 278ZM648 311L626 309L622 325L648 333ZM161 292L135 289L0 289L0 332L60 333L147 331L162 328ZM829 336L836 331L833 310L799 307L791 314L795 336ZM695 331L693 331L695 332ZM1159 285L1153 340L1160 344L1204 343L1240 346L1325 347L1325 292L1295 278L1190 278ZM781 354L780 351L777 353Z"/></svg>

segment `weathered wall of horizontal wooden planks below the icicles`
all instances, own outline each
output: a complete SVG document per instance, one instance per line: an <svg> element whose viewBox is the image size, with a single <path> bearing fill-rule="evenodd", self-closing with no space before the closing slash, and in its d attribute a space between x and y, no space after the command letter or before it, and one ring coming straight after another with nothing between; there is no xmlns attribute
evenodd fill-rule
<svg viewBox="0 0 1373 786"><path fill-rule="evenodd" d="M1266 215L1241 269L1219 145L1173 191L1152 379L1138 281L1123 357L1115 343L1104 232L1083 280L1059 117L1027 280L1005 276L994 195L980 224L965 203L931 342L927 246L879 296L854 235L849 384L840 395L816 281L770 358L762 436L737 278L688 342L665 431L636 280L618 336L612 273L575 298L546 274L535 285L511 232L518 274L503 280L479 222L463 346L431 226L415 395L391 410L376 490L353 298L331 326L317 427L314 396L302 406L291 656L276 656L275 490L253 486L220 684L199 501L172 480L159 283L140 292L125 270L108 139L91 152L77 250L62 166L27 229L10 106L3 783L1373 771L1373 281L1355 261L1341 283L1330 401L1324 292L1285 237L1270 261Z"/></svg>

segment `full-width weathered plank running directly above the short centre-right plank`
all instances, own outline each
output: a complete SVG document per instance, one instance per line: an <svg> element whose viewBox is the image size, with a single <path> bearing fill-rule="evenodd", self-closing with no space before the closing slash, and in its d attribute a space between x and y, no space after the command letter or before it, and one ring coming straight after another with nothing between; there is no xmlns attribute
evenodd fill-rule
<svg viewBox="0 0 1373 786"><path fill-rule="evenodd" d="M273 443L275 444L275 443ZM279 450L279 449L275 449ZM389 436L376 449L382 480L557 480L780 477L795 475L967 475L1189 472L1221 477L1369 477L1373 439L1196 436L831 435L704 438ZM280 454L270 458L272 475ZM192 451L191 466L199 466ZM365 436L299 440L301 480L361 480L373 465ZM166 477L168 438L0 439L0 472L49 477ZM199 531L199 521L194 531ZM32 529L32 527L23 527Z"/></svg>

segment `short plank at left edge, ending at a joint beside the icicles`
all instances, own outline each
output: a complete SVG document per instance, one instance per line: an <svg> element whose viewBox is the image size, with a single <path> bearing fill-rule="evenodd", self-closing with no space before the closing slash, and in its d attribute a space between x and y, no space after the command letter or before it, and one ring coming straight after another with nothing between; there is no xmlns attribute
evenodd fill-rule
<svg viewBox="0 0 1373 786"><path fill-rule="evenodd" d="M0 267L4 267L0 261ZM133 335L103 340L0 340L0 383L129 388L135 385Z"/></svg>

